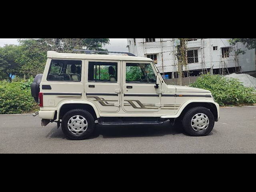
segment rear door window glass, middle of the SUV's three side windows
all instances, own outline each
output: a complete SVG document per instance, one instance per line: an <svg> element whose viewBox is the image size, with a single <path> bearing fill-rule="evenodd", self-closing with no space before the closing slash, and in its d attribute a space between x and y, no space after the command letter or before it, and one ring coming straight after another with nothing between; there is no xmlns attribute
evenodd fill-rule
<svg viewBox="0 0 256 192"><path fill-rule="evenodd" d="M117 82L117 62L89 62L88 81Z"/></svg>

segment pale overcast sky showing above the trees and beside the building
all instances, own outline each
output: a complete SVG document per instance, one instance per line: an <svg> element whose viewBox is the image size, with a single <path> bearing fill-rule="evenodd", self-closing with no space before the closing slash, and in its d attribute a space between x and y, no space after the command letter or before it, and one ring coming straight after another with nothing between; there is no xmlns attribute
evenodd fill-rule
<svg viewBox="0 0 256 192"><path fill-rule="evenodd" d="M18 39L1 39L0 38L0 46L4 46L5 44L18 44ZM105 48L107 48L109 51L122 51L122 52L128 52L127 46L127 39L114 39L110 38L110 44L106 45Z"/></svg>

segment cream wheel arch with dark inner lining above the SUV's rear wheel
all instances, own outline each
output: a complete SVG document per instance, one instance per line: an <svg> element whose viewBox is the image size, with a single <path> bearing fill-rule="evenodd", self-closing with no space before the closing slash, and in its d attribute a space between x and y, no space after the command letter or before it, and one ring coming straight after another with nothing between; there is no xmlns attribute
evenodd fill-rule
<svg viewBox="0 0 256 192"><path fill-rule="evenodd" d="M94 104L87 101L65 101L58 106L56 120L60 120L64 114L72 109L83 109L87 110L92 114L94 118L99 118L100 114Z"/></svg>

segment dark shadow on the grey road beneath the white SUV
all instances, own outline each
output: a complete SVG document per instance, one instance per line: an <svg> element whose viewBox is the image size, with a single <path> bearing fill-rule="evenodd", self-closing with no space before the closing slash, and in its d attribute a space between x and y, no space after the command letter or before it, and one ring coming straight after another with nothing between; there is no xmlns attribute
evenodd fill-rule
<svg viewBox="0 0 256 192"><path fill-rule="evenodd" d="M169 122L164 122L162 125L126 125L126 126L102 126L96 125L94 133L89 139L97 138L100 135L103 138L128 138L128 137L154 137L165 135L184 134L180 125L170 126ZM51 129L47 134L48 138L63 138L61 128Z"/></svg>

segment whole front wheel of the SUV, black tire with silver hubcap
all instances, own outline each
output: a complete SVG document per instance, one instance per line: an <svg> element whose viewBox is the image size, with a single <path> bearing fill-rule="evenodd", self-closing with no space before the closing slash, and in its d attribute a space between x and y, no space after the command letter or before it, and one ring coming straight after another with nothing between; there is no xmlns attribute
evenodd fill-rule
<svg viewBox="0 0 256 192"><path fill-rule="evenodd" d="M186 112L182 125L190 136L206 136L214 127L214 115L208 108L194 107Z"/></svg>

